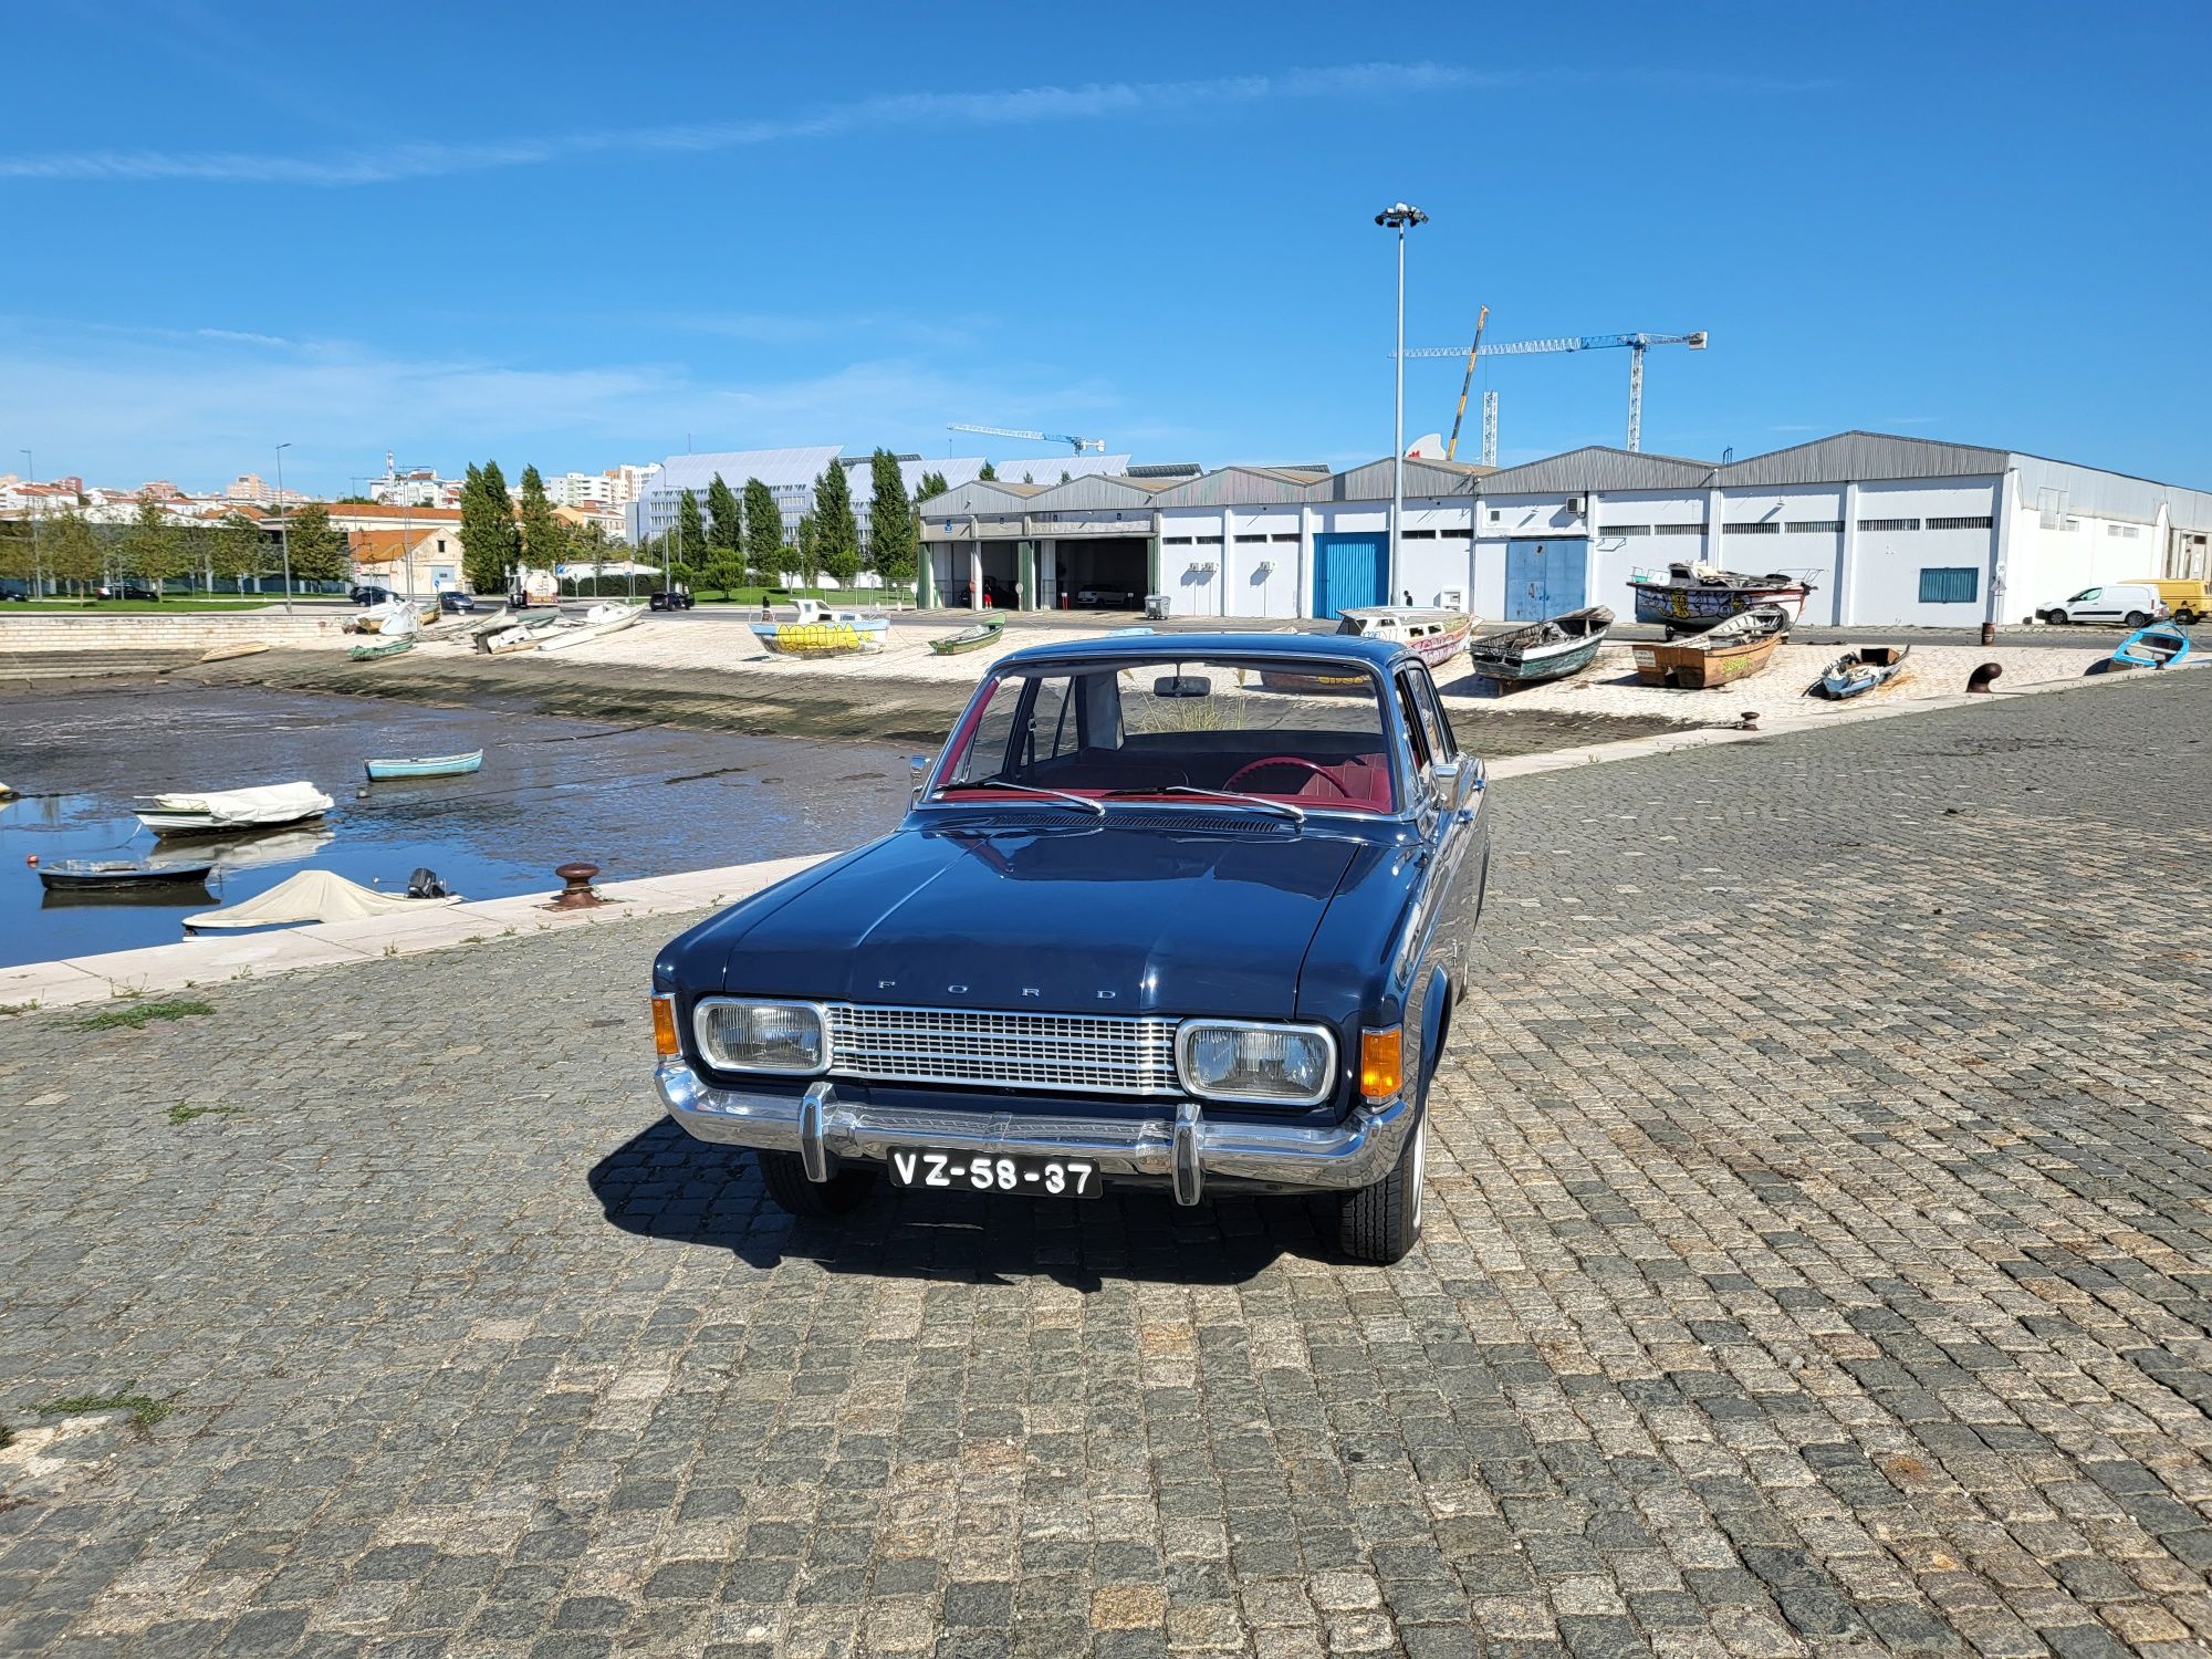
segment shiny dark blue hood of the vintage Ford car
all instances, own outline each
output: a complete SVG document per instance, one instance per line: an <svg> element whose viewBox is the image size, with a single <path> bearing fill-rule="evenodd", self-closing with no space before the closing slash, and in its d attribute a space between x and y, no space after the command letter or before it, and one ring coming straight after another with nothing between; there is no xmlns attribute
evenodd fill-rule
<svg viewBox="0 0 2212 1659"><path fill-rule="evenodd" d="M721 951L732 993L1279 1020L1358 845L1312 827L902 830L697 945Z"/></svg>

